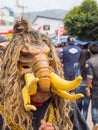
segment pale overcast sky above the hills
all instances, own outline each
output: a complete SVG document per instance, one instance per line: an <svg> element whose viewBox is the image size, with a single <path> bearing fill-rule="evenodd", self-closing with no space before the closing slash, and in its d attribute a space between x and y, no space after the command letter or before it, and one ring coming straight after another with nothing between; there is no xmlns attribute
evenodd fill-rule
<svg viewBox="0 0 98 130"><path fill-rule="evenodd" d="M7 6L14 11L21 11L22 8L16 6L18 1L20 6L25 7L24 11L44 11L50 9L70 10L76 5L80 5L83 0L0 0L0 8ZM96 0L98 2L98 0Z"/></svg>

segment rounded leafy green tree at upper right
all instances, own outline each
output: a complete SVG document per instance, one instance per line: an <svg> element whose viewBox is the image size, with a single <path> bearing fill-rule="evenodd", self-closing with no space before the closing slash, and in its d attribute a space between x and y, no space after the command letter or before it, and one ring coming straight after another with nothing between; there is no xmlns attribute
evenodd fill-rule
<svg viewBox="0 0 98 130"><path fill-rule="evenodd" d="M80 40L98 40L98 5L95 0L84 0L64 17L68 33Z"/></svg>

